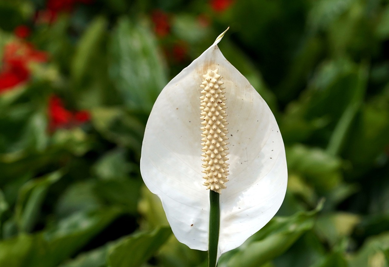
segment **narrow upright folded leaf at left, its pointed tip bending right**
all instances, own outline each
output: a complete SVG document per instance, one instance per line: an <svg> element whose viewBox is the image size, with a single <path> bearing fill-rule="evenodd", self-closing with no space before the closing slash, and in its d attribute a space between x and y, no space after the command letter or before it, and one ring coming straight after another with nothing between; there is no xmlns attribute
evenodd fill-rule
<svg viewBox="0 0 389 267"><path fill-rule="evenodd" d="M62 175L60 171L53 172L40 179L30 180L21 187L15 206L15 220L19 231L33 230L49 186L57 182Z"/></svg>

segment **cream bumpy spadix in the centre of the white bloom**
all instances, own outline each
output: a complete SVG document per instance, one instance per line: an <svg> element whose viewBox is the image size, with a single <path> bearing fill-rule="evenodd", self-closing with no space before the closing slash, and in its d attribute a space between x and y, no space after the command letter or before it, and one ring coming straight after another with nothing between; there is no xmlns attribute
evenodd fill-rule
<svg viewBox="0 0 389 267"><path fill-rule="evenodd" d="M203 75L204 81L200 87L204 90L200 99L200 110L202 119L201 130L203 131L201 139L203 143L204 157L203 178L206 180L204 186L207 189L221 193L221 189L227 188L224 184L228 181L228 163L226 157L228 152L227 147L227 120L226 120L226 97L223 90L225 89L219 69L208 69L207 74Z"/></svg>

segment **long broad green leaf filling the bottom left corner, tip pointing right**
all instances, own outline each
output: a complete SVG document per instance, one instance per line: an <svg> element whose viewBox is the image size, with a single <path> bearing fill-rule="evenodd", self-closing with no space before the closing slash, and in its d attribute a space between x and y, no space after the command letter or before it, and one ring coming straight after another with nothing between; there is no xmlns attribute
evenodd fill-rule
<svg viewBox="0 0 389 267"><path fill-rule="evenodd" d="M55 267L72 256L119 215L117 209L79 212L37 234L0 242L0 266Z"/></svg>

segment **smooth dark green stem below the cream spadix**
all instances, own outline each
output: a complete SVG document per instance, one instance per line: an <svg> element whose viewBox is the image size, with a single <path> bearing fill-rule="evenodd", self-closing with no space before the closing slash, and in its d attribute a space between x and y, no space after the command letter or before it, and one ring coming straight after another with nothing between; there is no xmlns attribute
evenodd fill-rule
<svg viewBox="0 0 389 267"><path fill-rule="evenodd" d="M209 243L208 243L208 267L217 265L217 244L219 243L220 207L218 192L209 191Z"/></svg>

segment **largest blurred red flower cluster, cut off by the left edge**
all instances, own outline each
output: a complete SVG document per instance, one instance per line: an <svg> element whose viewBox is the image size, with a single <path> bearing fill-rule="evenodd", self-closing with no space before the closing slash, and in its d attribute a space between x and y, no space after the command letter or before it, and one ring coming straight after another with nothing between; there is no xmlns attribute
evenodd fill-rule
<svg viewBox="0 0 389 267"><path fill-rule="evenodd" d="M28 64L45 62L47 54L25 42L12 42L4 47L3 67L0 70L0 92L11 89L30 78Z"/></svg>

